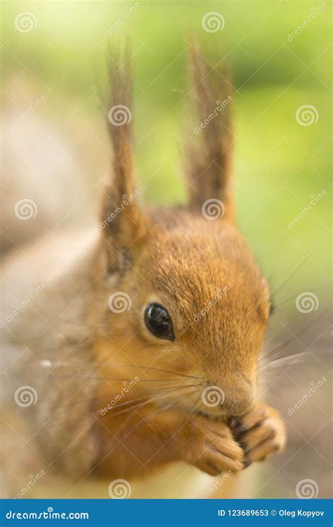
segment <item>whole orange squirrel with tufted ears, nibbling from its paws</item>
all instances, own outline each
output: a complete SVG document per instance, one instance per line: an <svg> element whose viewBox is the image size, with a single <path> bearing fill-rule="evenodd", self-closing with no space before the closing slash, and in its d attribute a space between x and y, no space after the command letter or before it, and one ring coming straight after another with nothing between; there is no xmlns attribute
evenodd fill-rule
<svg viewBox="0 0 333 527"><path fill-rule="evenodd" d="M187 151L188 203L150 208L134 177L129 55L112 58L105 108L119 113L100 227L6 262L5 304L44 280L7 316L7 392L61 474L140 479L178 461L235 473L286 438L257 395L270 292L235 225L231 83L192 48L203 125ZM18 404L24 388L30 405Z"/></svg>

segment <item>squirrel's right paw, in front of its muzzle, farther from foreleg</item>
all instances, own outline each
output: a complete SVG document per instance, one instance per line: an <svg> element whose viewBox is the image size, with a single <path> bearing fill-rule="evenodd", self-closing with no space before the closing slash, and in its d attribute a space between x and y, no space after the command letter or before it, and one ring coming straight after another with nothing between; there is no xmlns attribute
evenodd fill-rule
<svg viewBox="0 0 333 527"><path fill-rule="evenodd" d="M263 461L270 453L280 452L285 447L285 424L275 408L263 403L256 403L242 417L233 417L230 429L244 450L245 467L253 461Z"/></svg>

